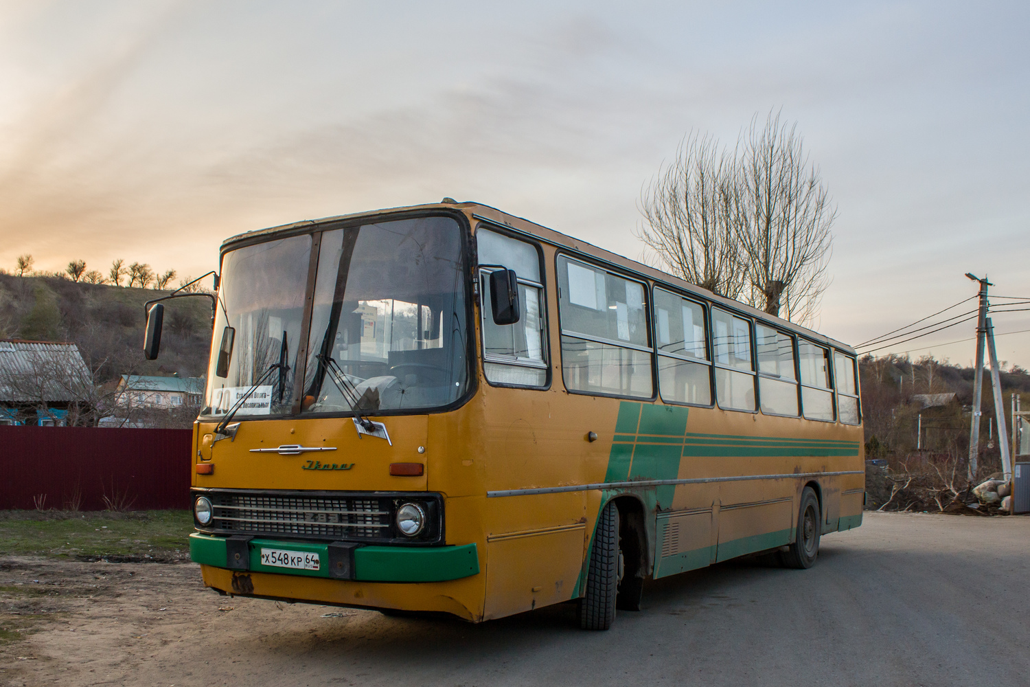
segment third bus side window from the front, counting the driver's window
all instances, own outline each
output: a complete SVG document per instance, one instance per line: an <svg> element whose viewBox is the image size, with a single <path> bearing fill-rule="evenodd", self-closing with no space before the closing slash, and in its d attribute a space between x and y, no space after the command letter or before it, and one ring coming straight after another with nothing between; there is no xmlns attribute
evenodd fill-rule
<svg viewBox="0 0 1030 687"><path fill-rule="evenodd" d="M654 289L658 390L665 403L712 405L711 363L700 305Z"/></svg>

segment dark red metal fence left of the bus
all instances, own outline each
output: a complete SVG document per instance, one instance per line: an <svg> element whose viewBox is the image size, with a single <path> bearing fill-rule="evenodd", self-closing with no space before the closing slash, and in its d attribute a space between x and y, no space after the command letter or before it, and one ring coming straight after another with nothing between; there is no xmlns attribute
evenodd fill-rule
<svg viewBox="0 0 1030 687"><path fill-rule="evenodd" d="M190 430L0 426L0 509L190 508Z"/></svg>

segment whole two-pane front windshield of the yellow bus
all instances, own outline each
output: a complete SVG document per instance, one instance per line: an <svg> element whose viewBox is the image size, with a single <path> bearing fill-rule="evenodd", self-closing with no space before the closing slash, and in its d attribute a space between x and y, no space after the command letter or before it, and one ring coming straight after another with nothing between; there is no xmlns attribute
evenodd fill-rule
<svg viewBox="0 0 1030 687"><path fill-rule="evenodd" d="M311 247L303 235L226 253L203 415L225 415L240 402L234 417L290 413L298 381L306 414L427 410L465 394L457 221L323 232L307 360L299 364Z"/></svg>

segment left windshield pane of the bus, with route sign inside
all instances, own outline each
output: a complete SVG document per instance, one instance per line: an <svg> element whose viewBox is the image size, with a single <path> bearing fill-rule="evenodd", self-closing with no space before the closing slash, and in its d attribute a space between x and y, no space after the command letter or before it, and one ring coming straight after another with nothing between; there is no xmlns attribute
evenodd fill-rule
<svg viewBox="0 0 1030 687"><path fill-rule="evenodd" d="M309 235L226 253L201 415L289 412L310 259Z"/></svg>

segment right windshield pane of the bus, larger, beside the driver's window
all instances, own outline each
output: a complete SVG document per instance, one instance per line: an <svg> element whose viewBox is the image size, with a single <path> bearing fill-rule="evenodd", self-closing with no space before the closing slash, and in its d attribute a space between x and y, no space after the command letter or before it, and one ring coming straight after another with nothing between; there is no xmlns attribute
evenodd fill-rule
<svg viewBox="0 0 1030 687"><path fill-rule="evenodd" d="M448 406L469 385L461 231L450 217L322 234L304 413Z"/></svg>

